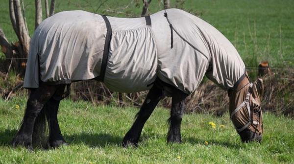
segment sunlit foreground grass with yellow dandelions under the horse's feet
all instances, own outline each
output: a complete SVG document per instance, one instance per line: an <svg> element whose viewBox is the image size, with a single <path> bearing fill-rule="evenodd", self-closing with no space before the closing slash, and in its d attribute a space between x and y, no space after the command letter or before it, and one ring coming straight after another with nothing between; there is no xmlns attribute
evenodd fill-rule
<svg viewBox="0 0 294 164"><path fill-rule="evenodd" d="M12 148L10 142L22 120L25 103L26 98L21 96L0 100L0 163L294 163L294 120L283 116L266 113L263 142L245 144L227 114L187 114L182 121L183 143L167 144L169 111L156 108L143 129L139 148L125 149L121 142L138 109L70 100L62 101L58 115L69 146L33 152ZM217 124L216 129L208 124L211 121Z"/></svg>

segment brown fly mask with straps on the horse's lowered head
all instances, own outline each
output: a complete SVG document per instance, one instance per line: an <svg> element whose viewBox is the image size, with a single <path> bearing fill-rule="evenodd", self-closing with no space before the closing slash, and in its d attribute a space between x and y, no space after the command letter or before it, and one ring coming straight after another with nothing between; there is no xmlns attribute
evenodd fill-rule
<svg viewBox="0 0 294 164"><path fill-rule="evenodd" d="M243 142L261 141L263 122L261 99L264 90L262 79L250 83L248 75L237 87L228 91L230 98L230 118Z"/></svg>

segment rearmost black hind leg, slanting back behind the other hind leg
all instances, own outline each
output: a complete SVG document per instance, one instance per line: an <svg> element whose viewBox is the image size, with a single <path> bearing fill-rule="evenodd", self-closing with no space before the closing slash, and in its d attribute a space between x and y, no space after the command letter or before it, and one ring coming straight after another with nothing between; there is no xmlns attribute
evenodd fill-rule
<svg viewBox="0 0 294 164"><path fill-rule="evenodd" d="M40 83L38 89L31 92L26 103L25 116L16 136L13 138L12 145L24 145L32 149L32 133L35 119L41 112L44 104L56 91L56 86Z"/></svg>

